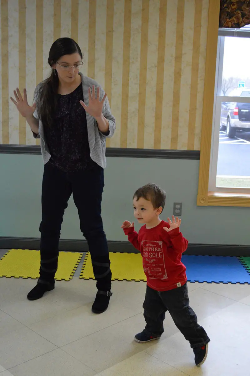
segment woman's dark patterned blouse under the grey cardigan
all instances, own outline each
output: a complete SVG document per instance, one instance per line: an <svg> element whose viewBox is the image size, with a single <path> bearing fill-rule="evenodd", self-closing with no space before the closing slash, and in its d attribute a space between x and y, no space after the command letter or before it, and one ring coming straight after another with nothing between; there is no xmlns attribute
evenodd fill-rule
<svg viewBox="0 0 250 376"><path fill-rule="evenodd" d="M82 83L70 94L58 94L54 123L45 127L45 138L51 154L49 164L65 172L97 166L90 158L88 129Z"/></svg>

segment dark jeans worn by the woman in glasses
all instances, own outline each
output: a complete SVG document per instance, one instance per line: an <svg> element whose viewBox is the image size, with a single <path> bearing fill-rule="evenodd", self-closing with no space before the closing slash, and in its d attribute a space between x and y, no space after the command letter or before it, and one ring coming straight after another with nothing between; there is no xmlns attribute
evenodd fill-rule
<svg viewBox="0 0 250 376"><path fill-rule="evenodd" d="M97 288L111 289L108 244L103 231L101 202L104 187L103 168L66 173L49 163L42 180L42 222L40 280L52 281L58 266L58 246L64 211L73 194L80 230L88 242Z"/></svg>

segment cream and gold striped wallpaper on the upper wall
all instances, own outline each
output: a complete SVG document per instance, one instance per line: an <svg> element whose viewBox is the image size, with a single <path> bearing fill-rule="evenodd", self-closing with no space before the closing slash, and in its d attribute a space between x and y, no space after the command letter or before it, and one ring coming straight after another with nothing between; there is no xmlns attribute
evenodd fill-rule
<svg viewBox="0 0 250 376"><path fill-rule="evenodd" d="M71 36L108 93L111 147L199 150L209 0L0 0L0 143L34 144L9 100L29 102L48 52Z"/></svg>

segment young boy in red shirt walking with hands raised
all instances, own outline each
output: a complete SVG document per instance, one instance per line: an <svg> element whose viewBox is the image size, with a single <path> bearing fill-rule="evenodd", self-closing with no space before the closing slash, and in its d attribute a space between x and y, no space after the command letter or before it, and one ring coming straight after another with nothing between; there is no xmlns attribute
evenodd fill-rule
<svg viewBox="0 0 250 376"><path fill-rule="evenodd" d="M165 312L169 312L177 328L189 341L196 365L205 362L210 339L197 316L189 307L186 267L181 262L188 241L179 230L181 220L162 221L166 193L155 184L139 188L133 196L134 216L144 223L139 233L134 222L121 226L133 246L141 252L147 289L143 303L145 329L135 335L140 343L158 340L162 333Z"/></svg>

